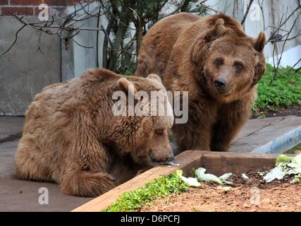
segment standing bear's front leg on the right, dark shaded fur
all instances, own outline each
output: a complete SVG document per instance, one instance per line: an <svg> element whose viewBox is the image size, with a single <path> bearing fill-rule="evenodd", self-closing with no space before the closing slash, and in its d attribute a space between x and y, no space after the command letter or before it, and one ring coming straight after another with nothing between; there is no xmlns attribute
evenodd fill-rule
<svg viewBox="0 0 301 226"><path fill-rule="evenodd" d="M219 116L213 127L210 149L212 151L228 151L231 141L238 135L251 113L252 102L240 100L224 104L219 109Z"/></svg>

